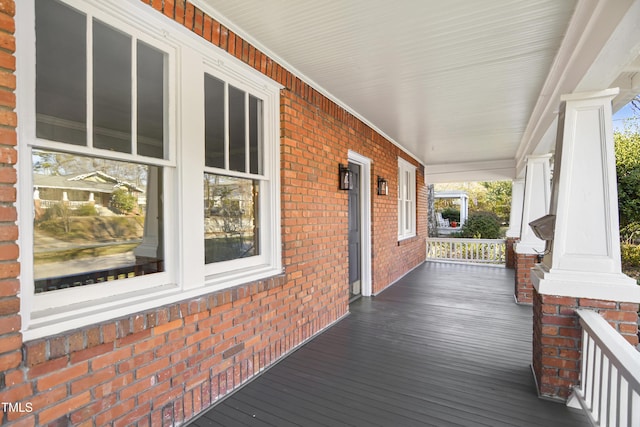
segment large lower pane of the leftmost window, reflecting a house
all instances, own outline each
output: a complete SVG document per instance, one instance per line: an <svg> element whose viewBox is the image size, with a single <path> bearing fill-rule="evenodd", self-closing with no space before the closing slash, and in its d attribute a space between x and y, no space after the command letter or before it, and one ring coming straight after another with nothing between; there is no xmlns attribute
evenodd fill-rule
<svg viewBox="0 0 640 427"><path fill-rule="evenodd" d="M34 151L36 292L163 271L162 169Z"/></svg>

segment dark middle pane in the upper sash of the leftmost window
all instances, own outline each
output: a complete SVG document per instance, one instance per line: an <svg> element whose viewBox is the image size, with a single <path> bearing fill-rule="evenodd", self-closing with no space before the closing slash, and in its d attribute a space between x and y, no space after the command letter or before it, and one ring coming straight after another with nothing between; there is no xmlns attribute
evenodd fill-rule
<svg viewBox="0 0 640 427"><path fill-rule="evenodd" d="M93 146L131 153L131 38L95 20Z"/></svg>

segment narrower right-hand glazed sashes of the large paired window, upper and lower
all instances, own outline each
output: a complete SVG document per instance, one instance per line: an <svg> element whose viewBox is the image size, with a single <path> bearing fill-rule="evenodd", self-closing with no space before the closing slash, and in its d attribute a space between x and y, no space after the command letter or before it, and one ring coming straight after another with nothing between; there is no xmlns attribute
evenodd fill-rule
<svg viewBox="0 0 640 427"><path fill-rule="evenodd" d="M205 263L261 254L262 100L205 75Z"/></svg>

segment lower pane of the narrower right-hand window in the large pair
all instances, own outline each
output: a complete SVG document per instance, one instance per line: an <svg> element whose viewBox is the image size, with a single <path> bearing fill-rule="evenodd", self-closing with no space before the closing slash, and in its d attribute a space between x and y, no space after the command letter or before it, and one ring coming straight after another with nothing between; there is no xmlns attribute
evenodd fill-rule
<svg viewBox="0 0 640 427"><path fill-rule="evenodd" d="M259 188L256 180L204 174L207 264L260 253Z"/></svg>

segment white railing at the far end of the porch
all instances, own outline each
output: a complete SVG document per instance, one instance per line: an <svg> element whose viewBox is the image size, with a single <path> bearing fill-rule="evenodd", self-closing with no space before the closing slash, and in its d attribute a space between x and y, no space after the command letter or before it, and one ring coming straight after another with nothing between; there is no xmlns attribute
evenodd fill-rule
<svg viewBox="0 0 640 427"><path fill-rule="evenodd" d="M506 240L503 239L427 239L428 260L504 264L505 257Z"/></svg>

